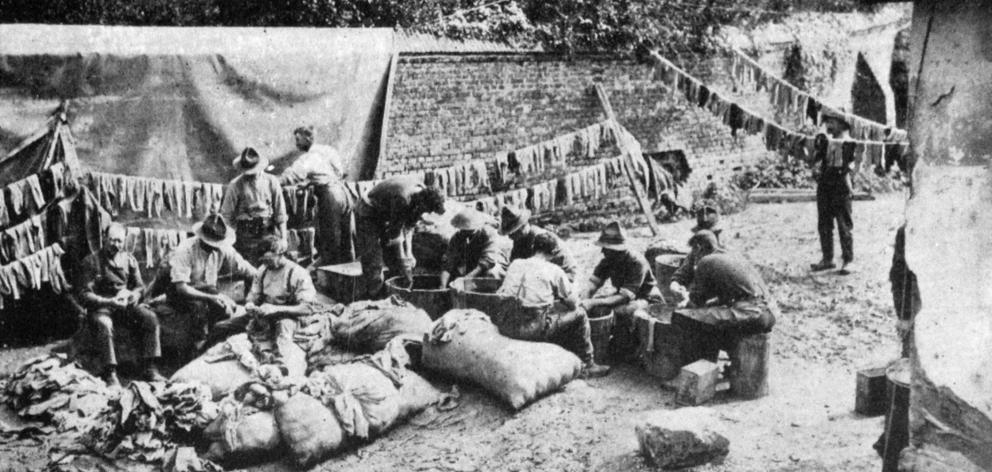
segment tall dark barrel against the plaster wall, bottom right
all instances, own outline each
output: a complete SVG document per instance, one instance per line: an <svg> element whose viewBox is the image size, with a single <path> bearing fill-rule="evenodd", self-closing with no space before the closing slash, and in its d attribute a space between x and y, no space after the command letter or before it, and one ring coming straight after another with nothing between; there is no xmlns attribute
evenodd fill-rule
<svg viewBox="0 0 992 472"><path fill-rule="evenodd" d="M889 411L885 414L885 447L882 472L899 470L899 453L909 445L909 384L912 377L909 359L902 358L885 369L888 383Z"/></svg>

